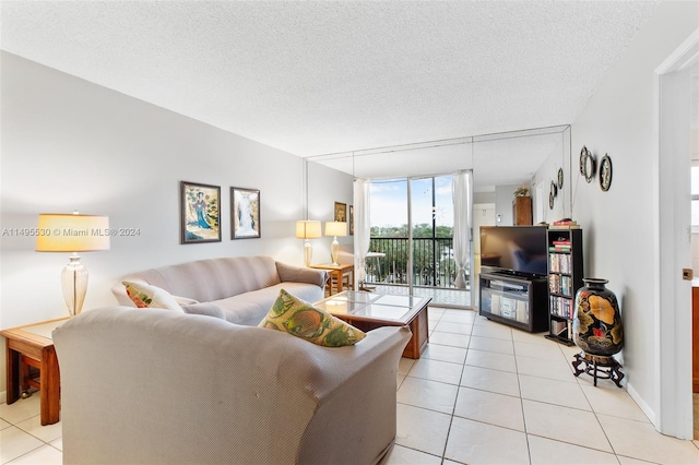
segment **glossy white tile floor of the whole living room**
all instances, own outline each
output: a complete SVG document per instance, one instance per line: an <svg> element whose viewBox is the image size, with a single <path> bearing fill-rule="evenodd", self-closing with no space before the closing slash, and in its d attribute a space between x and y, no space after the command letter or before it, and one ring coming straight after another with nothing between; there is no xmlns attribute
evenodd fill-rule
<svg viewBox="0 0 699 465"><path fill-rule="evenodd" d="M399 367L393 464L699 464L699 441L655 431L611 381L576 378L578 351L429 309L430 343ZM39 426L39 397L0 404L0 463L60 464L61 424Z"/></svg>

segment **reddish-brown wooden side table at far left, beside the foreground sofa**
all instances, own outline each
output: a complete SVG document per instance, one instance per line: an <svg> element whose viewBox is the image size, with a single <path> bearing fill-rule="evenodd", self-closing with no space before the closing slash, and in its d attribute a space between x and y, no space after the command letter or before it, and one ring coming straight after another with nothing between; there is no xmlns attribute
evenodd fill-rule
<svg viewBox="0 0 699 465"><path fill-rule="evenodd" d="M5 338L8 404L14 403L22 391L34 385L39 389L42 426L60 419L60 371L51 339L51 332L68 318L27 324L0 331ZM29 367L39 369L39 382L29 380Z"/></svg>

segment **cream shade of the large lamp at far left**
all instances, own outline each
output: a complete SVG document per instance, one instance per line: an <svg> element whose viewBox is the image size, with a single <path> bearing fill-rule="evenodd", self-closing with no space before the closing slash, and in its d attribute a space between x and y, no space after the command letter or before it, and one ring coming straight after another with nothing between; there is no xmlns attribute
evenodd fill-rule
<svg viewBox="0 0 699 465"><path fill-rule="evenodd" d="M42 213L37 252L109 250L109 217L70 213Z"/></svg>

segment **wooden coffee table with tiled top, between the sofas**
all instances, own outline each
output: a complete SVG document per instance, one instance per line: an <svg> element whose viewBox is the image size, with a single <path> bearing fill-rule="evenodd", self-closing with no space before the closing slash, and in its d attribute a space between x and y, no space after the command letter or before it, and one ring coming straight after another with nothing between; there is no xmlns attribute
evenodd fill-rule
<svg viewBox="0 0 699 465"><path fill-rule="evenodd" d="M345 290L316 306L362 331L380 326L410 326L413 336L403 350L403 357L417 359L429 341L427 305L430 301L429 297Z"/></svg>

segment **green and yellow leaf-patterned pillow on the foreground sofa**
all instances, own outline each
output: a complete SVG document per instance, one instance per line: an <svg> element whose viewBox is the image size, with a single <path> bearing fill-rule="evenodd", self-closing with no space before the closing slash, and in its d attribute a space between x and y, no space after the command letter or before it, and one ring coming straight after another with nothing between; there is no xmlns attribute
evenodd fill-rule
<svg viewBox="0 0 699 465"><path fill-rule="evenodd" d="M325 347L348 346L366 336L353 325L284 289L280 290L270 312L258 326L289 333Z"/></svg>

